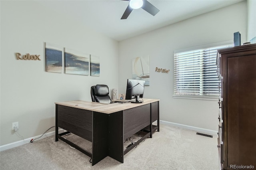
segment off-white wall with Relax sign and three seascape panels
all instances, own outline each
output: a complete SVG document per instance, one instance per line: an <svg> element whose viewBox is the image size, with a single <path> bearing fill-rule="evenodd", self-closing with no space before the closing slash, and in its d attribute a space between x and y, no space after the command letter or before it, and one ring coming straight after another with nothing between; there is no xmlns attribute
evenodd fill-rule
<svg viewBox="0 0 256 170"><path fill-rule="evenodd" d="M21 140L12 122L19 122L24 139L43 134L55 125L54 102L91 101L92 85L118 86L118 42L61 16L49 3L1 1L1 146ZM46 72L44 42L99 56L100 77ZM16 52L39 54L41 61L17 60Z"/></svg>

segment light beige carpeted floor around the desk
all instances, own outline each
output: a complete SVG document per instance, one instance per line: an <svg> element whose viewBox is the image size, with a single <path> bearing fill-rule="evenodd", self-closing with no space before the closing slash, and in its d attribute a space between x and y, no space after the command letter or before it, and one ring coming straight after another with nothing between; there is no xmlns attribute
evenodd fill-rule
<svg viewBox="0 0 256 170"><path fill-rule="evenodd" d="M78 146L91 150L91 143L70 134ZM135 139L136 140L136 139ZM129 140L127 141L129 142ZM160 125L160 132L146 138L124 156L124 163L106 157L94 166L90 157L55 136L0 152L1 170L218 170L217 135Z"/></svg>

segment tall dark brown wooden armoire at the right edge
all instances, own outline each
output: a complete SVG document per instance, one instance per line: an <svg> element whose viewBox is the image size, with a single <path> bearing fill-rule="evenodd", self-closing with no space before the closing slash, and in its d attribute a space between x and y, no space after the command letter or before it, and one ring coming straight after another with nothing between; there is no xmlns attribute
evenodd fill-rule
<svg viewBox="0 0 256 170"><path fill-rule="evenodd" d="M256 44L219 49L220 169L256 169Z"/></svg>

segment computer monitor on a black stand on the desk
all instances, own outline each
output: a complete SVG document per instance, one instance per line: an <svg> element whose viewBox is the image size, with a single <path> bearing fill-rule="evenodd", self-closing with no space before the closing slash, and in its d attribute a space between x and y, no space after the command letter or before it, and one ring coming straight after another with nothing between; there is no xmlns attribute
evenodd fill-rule
<svg viewBox="0 0 256 170"><path fill-rule="evenodd" d="M131 103L142 103L139 99L143 97L144 85L144 80L127 79L125 99L131 100L135 97L135 101L132 101Z"/></svg>

